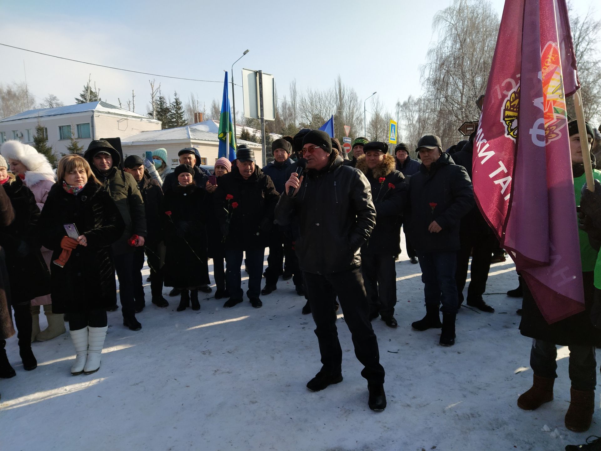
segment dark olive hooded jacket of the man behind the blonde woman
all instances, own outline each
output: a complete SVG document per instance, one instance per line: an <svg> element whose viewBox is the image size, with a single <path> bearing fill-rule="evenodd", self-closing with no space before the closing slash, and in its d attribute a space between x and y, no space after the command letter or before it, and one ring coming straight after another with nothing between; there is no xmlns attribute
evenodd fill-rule
<svg viewBox="0 0 601 451"><path fill-rule="evenodd" d="M102 183L103 189L108 192L112 200L117 205L119 213L125 223L123 235L113 244L113 253L120 256L135 252L136 248L127 244L132 235L147 236L146 216L144 213L144 201L138 189L138 184L132 174L120 170L118 167L121 162L121 156L114 149L106 148L111 153L114 167L103 174L94 167L93 154L98 149L87 150L84 158L90 163L94 175Z"/></svg>

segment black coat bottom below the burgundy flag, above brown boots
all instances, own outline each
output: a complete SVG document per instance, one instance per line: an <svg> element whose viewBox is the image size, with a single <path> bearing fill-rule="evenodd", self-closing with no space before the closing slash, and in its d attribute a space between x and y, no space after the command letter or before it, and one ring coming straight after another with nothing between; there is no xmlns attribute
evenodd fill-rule
<svg viewBox="0 0 601 451"><path fill-rule="evenodd" d="M548 324L545 321L543 314L538 310L532 293L526 283L523 282L520 333L526 337L561 346L601 346L601 331L595 329L591 323L591 307L594 296L593 278L593 271L582 273L585 310L553 324Z"/></svg>

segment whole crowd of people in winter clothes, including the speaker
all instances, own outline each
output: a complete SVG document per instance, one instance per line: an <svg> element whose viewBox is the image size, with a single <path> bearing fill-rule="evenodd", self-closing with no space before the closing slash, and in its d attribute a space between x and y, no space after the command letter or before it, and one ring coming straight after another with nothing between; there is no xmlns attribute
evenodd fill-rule
<svg viewBox="0 0 601 451"><path fill-rule="evenodd" d="M509 294L523 296L520 330L534 338L533 384L517 404L534 410L553 399L555 346L567 345L572 402L566 426L585 431L601 344L601 184L594 193L585 189L584 138L575 121L569 132L587 310L548 325L521 278ZM591 149L595 136L587 125ZM212 259L215 298L226 299L224 308L243 302L242 265L246 298L255 308L280 278L293 281L306 299L302 313L313 315L322 357L310 390L343 380L335 325L341 308L364 366L368 405L382 411L385 371L371 321L379 317L398 327L401 227L424 283L426 314L412 323L415 330L439 328L440 344L454 345L470 256L466 304L494 311L483 295L499 243L474 201L473 142L474 135L445 151L439 137L425 135L416 160L407 144L397 144L391 155L388 144L358 137L349 159L326 132L302 129L273 141L273 161L262 169L254 151L240 145L236 159L219 158L211 174L192 147L180 150L180 164L170 168L165 149L155 150L152 161L123 158L120 141L111 138L92 141L82 156L64 156L55 174L33 147L7 141L0 147L0 378L15 375L4 351L14 333L12 316L23 369L37 366L31 342L63 334L68 322L76 351L71 372L90 374L100 368L106 312L118 308L115 274L123 325L135 331L142 327L136 313L145 308L145 261L152 304L167 307L163 286L171 287L169 294L179 296L177 311L184 311L200 310L199 290L212 292ZM592 152L590 158L594 164ZM594 177L601 180L601 171ZM48 324L43 331L40 305Z"/></svg>

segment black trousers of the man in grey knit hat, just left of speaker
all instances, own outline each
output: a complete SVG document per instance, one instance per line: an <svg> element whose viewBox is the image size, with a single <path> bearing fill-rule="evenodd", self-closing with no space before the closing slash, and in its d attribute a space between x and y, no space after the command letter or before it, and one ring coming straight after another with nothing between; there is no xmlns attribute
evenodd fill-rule
<svg viewBox="0 0 601 451"><path fill-rule="evenodd" d="M286 271L292 274L294 286L302 285L302 272L294 252L294 244L286 236L281 227L274 227L269 235L269 255L267 256L267 269L265 270L265 283L275 285L279 276L283 274L282 265L286 259Z"/></svg>

